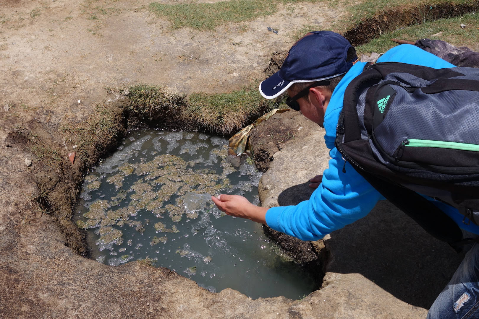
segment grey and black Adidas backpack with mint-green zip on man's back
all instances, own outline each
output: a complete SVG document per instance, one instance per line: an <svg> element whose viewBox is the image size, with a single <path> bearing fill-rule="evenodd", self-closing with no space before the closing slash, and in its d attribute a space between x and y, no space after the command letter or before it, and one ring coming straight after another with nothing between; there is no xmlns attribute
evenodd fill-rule
<svg viewBox="0 0 479 319"><path fill-rule="evenodd" d="M344 93L335 146L381 195L456 252L479 222L479 69L367 64ZM420 195L422 194L422 195Z"/></svg>

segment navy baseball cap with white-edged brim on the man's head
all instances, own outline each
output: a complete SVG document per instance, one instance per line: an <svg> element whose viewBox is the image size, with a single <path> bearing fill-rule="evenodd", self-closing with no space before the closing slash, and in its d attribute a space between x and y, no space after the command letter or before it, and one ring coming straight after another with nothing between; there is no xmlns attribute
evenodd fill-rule
<svg viewBox="0 0 479 319"><path fill-rule="evenodd" d="M310 32L289 49L281 69L260 83L260 93L274 99L295 83L339 77L356 61L356 50L341 34Z"/></svg>

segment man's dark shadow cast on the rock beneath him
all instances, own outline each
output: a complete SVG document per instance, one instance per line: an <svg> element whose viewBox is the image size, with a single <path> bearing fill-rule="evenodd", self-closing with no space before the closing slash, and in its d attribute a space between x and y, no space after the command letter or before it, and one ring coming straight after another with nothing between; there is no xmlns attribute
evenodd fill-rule
<svg viewBox="0 0 479 319"><path fill-rule="evenodd" d="M308 183L289 187L278 203L296 205L312 191ZM326 272L361 274L400 300L426 309L464 258L386 200L365 218L332 232L326 247L331 252Z"/></svg>

